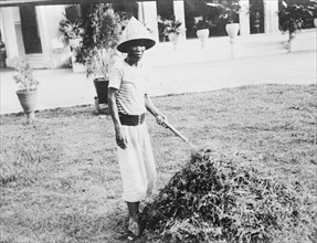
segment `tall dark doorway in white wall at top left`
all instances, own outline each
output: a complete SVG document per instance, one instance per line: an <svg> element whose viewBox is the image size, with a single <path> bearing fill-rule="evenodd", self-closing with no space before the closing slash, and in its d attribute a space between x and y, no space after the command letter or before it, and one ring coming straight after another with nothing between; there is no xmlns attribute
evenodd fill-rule
<svg viewBox="0 0 317 243"><path fill-rule="evenodd" d="M20 17L25 54L42 53L35 7L21 6Z"/></svg>

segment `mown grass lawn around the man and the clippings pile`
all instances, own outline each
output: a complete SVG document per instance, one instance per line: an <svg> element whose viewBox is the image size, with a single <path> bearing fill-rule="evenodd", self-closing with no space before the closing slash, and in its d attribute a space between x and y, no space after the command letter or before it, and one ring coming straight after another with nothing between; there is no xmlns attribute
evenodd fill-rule
<svg viewBox="0 0 317 243"><path fill-rule="evenodd" d="M193 144L239 156L317 197L316 85L256 85L154 103ZM1 242L126 242L126 204L109 115L93 106L1 116ZM187 144L147 116L158 189ZM317 213L313 211L313 213ZM317 226L317 225L316 225Z"/></svg>

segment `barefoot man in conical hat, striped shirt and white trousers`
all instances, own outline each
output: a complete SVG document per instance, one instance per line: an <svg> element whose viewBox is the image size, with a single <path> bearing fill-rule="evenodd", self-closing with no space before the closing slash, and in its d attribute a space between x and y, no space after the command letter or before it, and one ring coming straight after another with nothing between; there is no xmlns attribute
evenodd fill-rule
<svg viewBox="0 0 317 243"><path fill-rule="evenodd" d="M117 46L127 56L114 64L109 75L108 105L115 126L123 199L129 211L128 229L135 235L140 233L139 202L152 192L157 176L145 113L148 110L162 126L166 119L148 96L149 70L141 62L144 52L155 43L147 29L131 18Z"/></svg>

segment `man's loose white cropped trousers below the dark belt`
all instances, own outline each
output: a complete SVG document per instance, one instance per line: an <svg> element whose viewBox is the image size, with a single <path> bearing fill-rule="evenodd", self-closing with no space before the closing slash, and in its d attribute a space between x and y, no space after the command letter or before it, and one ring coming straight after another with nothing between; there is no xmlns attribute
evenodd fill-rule
<svg viewBox="0 0 317 243"><path fill-rule="evenodd" d="M127 148L117 147L123 178L123 199L138 202L151 194L157 178L156 166L146 124L123 126L127 137Z"/></svg>

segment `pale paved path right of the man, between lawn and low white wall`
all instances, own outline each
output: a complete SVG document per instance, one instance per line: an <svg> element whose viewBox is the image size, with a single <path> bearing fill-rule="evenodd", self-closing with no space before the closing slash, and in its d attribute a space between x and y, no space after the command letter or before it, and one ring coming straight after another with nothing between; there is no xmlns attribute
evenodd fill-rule
<svg viewBox="0 0 317 243"><path fill-rule="evenodd" d="M213 61L155 68L155 95L203 92L251 84L316 83L316 52Z"/></svg>

